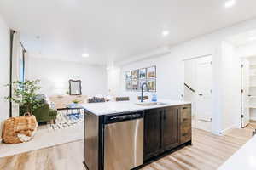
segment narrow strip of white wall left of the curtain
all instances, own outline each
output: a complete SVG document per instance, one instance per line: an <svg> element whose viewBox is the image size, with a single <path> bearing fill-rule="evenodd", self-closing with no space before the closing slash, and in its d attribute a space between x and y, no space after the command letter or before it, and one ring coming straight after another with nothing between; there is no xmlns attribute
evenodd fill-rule
<svg viewBox="0 0 256 170"><path fill-rule="evenodd" d="M9 88L4 87L9 83L9 27L0 15L0 139L2 137L3 120L9 117L9 102L3 99L9 95Z"/></svg>

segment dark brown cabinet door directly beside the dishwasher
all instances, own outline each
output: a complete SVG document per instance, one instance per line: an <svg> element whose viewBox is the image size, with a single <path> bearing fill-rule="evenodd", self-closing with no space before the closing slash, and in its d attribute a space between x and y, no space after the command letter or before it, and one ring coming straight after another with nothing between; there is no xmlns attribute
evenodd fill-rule
<svg viewBox="0 0 256 170"><path fill-rule="evenodd" d="M144 161L161 152L161 109L145 111Z"/></svg>

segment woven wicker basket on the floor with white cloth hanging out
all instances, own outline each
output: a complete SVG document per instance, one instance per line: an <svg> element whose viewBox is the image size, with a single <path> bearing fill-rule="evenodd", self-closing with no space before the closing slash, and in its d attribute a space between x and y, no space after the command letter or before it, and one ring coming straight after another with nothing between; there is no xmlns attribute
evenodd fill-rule
<svg viewBox="0 0 256 170"><path fill-rule="evenodd" d="M32 139L37 132L38 122L35 116L26 115L7 119L3 124L3 142L18 144Z"/></svg>

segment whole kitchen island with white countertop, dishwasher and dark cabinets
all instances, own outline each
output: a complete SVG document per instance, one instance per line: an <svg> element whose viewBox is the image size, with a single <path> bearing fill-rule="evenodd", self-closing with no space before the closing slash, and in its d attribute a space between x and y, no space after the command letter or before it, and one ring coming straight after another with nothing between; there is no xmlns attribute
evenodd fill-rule
<svg viewBox="0 0 256 170"><path fill-rule="evenodd" d="M85 104L84 166L129 170L191 144L191 104L162 100Z"/></svg>

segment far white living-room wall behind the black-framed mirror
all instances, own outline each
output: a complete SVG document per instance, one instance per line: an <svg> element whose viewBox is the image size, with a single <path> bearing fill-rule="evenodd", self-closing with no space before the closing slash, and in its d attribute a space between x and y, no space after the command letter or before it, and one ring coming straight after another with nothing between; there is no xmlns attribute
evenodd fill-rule
<svg viewBox="0 0 256 170"><path fill-rule="evenodd" d="M107 94L105 67L33 57L29 57L27 62L26 79L40 79L43 94L66 94L69 79L82 81L84 95Z"/></svg>

